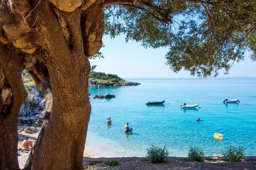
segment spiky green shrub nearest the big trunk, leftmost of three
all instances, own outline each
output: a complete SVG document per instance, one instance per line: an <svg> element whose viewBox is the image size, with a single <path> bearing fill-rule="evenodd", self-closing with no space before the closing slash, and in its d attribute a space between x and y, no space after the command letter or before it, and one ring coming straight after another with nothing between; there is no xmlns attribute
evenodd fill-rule
<svg viewBox="0 0 256 170"><path fill-rule="evenodd" d="M147 149L146 157L151 163L165 163L167 162L168 155L169 151L166 145L164 145L163 148L158 148L152 144L151 147Z"/></svg>

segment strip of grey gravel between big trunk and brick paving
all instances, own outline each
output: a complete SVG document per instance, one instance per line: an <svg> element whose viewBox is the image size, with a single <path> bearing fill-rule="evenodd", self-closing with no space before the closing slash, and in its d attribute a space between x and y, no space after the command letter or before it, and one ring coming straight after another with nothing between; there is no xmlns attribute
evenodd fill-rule
<svg viewBox="0 0 256 170"><path fill-rule="evenodd" d="M101 163L89 163L84 165L84 170L196 170L198 163L181 161L181 160L172 160L168 163L150 163L148 161L119 161L117 166L108 166L103 162Z"/></svg>

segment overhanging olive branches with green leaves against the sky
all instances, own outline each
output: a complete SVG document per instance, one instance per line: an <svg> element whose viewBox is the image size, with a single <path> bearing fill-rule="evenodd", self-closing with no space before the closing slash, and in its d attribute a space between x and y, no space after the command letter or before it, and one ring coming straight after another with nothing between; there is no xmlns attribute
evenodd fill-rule
<svg viewBox="0 0 256 170"><path fill-rule="evenodd" d="M144 47L169 48L166 64L175 72L216 77L224 69L227 74L246 50L255 61L254 0L115 2L105 9L105 34L125 34L126 41L140 41Z"/></svg>

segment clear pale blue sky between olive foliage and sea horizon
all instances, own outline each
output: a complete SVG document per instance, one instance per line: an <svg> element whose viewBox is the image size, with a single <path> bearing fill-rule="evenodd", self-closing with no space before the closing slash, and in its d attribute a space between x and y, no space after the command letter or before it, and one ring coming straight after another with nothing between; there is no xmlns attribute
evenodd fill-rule
<svg viewBox="0 0 256 170"><path fill-rule="evenodd" d="M136 41L125 42L124 36L111 39L103 37L105 47L101 48L104 59L91 60L91 65L97 65L95 71L117 74L121 78L188 78L188 71L178 74L165 64L167 48L144 48ZM252 62L249 53L245 60L234 63L228 75L220 71L218 77L256 77L256 62Z"/></svg>

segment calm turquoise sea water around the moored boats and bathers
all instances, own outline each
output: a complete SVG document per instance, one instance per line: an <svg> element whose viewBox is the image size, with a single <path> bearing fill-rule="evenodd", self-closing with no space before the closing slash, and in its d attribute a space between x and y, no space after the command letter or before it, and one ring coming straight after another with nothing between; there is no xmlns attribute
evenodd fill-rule
<svg viewBox="0 0 256 170"><path fill-rule="evenodd" d="M187 156L189 145L215 154L214 133L222 133L219 153L228 145L243 146L256 155L256 78L130 79L139 86L90 88L92 113L86 142L110 156L145 156L151 144L167 146L170 156ZM115 94L115 99L93 99L95 94ZM225 99L239 104L223 104ZM165 100L168 105L147 106ZM177 102L178 101L178 102ZM198 110L180 105L199 104ZM106 126L111 117L112 126ZM194 122L200 117L201 122ZM126 122L133 134L124 133Z"/></svg>

